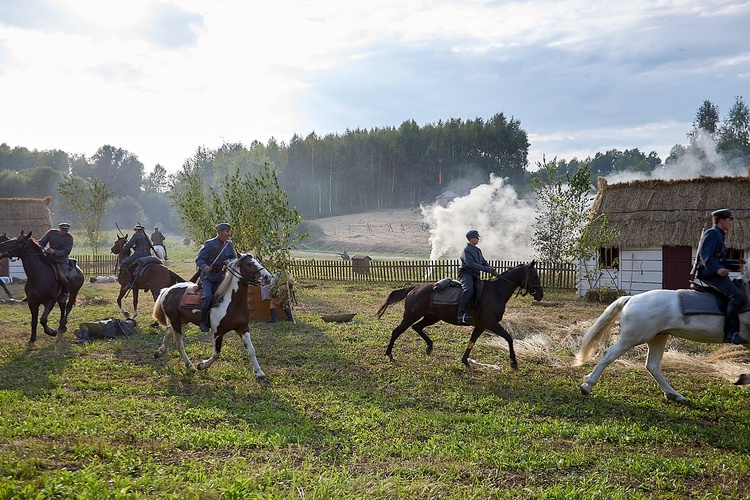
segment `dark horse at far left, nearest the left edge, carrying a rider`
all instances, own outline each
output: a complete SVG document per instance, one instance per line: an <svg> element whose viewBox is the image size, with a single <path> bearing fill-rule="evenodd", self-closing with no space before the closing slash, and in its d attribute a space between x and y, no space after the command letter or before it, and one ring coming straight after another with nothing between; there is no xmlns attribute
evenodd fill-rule
<svg viewBox="0 0 750 500"><path fill-rule="evenodd" d="M36 342L37 322L41 323L44 333L54 337L58 333L68 331L68 315L76 302L78 291L83 286L83 271L76 266L75 270L68 273L68 301L61 299L62 291L60 283L52 262L35 239L29 234L11 238L0 243L0 257L16 257L21 259L23 270L26 273L26 298L28 299L29 311L31 311L31 338L29 344ZM57 330L47 326L47 317L55 303L60 306L60 324ZM39 306L44 306L41 317Z"/></svg>

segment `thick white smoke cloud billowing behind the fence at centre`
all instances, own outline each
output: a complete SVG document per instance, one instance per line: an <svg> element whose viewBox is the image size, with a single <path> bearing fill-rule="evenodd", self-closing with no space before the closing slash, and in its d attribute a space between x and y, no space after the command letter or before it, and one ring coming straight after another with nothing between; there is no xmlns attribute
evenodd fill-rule
<svg viewBox="0 0 750 500"><path fill-rule="evenodd" d="M456 259L466 246L466 233L476 229L481 235L479 248L488 260L528 261L532 223L536 209L518 198L512 186L494 175L487 184L457 197L447 207L422 205L430 228L430 259Z"/></svg>

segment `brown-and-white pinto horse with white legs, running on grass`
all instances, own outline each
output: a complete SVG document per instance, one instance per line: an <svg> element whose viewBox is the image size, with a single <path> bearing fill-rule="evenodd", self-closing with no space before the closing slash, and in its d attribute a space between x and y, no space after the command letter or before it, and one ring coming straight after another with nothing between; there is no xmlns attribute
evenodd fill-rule
<svg viewBox="0 0 750 500"><path fill-rule="evenodd" d="M266 375L260 369L258 359L255 357L255 348L250 340L250 305L247 301L248 285L258 284L261 279L270 280L271 273L250 254L243 254L227 264L226 274L216 287L209 313L211 331L214 334L213 355L200 362L197 366L198 370L205 370L219 358L224 334L234 330L250 354L255 376L259 381L265 381ZM164 356L169 348L170 339L174 339L185 366L193 366L185 353L182 330L190 323L194 325L200 323L200 309L198 306L186 308L180 304L186 289L192 286L193 283L190 282L178 283L163 289L159 294L154 304L154 319L160 325L166 326L167 331L161 347L154 353L155 358Z"/></svg>

